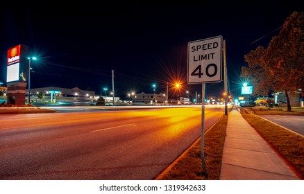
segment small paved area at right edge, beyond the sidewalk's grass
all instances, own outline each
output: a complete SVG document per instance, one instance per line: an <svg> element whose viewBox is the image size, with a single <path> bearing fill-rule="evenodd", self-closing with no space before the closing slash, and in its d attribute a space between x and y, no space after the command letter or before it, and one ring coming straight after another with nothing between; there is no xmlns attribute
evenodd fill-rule
<svg viewBox="0 0 304 194"><path fill-rule="evenodd" d="M262 118L304 135L304 116L296 115L259 115Z"/></svg>

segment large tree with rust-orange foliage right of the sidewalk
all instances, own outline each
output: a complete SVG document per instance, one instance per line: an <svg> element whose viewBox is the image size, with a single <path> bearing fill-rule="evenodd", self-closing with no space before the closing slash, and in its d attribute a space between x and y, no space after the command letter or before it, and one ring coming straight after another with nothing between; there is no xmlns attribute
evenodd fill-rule
<svg viewBox="0 0 304 194"><path fill-rule="evenodd" d="M289 94L294 94L298 89L301 89L302 96L304 94L303 30L303 12L293 12L282 26L280 34L271 39L266 49L260 46L245 55L248 68L242 68L241 76L252 78L257 84L256 91L262 91L262 87L285 91L287 111L292 110Z"/></svg>

